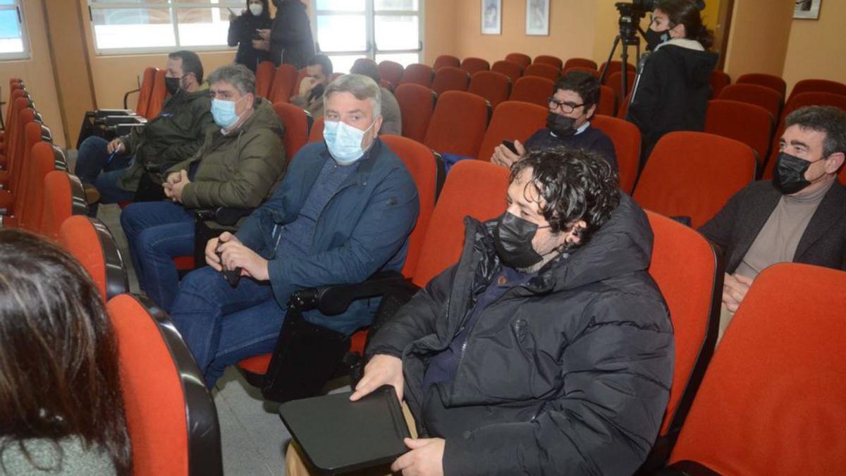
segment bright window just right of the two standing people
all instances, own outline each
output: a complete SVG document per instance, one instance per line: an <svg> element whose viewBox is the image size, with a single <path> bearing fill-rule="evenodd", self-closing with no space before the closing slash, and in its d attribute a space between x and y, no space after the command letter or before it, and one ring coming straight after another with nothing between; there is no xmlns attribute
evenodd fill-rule
<svg viewBox="0 0 846 476"><path fill-rule="evenodd" d="M316 42L346 73L358 58L420 63L423 0L312 0Z"/></svg>

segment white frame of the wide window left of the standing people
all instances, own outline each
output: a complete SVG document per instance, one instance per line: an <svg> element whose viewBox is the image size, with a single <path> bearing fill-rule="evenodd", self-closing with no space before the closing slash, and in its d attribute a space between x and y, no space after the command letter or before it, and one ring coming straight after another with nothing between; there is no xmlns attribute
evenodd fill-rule
<svg viewBox="0 0 846 476"><path fill-rule="evenodd" d="M206 0L206 3L185 3L179 0L166 0L167 3L148 3L148 2L114 2L106 3L99 0L87 0L88 4L88 24L91 27L91 38L93 40L94 53L97 56L119 56L129 54L147 54L147 53L172 53L179 49L189 49L193 52L225 52L235 51L237 47L228 46L224 40L222 45L195 45L183 46L179 42L179 18L177 10L180 8L232 8L234 11L244 9L244 2L241 0ZM216 2L216 3L213 3ZM169 47L120 47L120 48L101 48L97 45L97 35L94 25L94 11L95 10L113 10L113 9L141 9L141 8L159 8L168 9L170 11L170 25L173 28L173 38L175 44Z"/></svg>

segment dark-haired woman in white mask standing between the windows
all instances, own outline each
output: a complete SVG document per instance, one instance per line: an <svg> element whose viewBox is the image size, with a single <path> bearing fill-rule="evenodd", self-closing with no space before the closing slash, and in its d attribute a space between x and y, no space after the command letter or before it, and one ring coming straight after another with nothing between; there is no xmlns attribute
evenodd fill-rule
<svg viewBox="0 0 846 476"><path fill-rule="evenodd" d="M269 43L262 40L259 30L270 28L270 8L267 0L247 0L247 9L240 15L229 13L230 47L238 45L235 63L243 64L255 73L255 67L270 58Z"/></svg>

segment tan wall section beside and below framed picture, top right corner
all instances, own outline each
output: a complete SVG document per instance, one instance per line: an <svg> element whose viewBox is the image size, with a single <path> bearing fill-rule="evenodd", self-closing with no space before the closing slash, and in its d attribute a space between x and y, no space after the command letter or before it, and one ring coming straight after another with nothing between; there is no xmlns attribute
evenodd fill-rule
<svg viewBox="0 0 846 476"><path fill-rule="evenodd" d="M846 0L821 3L820 19L794 19L782 77L788 91L810 78L846 82Z"/></svg>

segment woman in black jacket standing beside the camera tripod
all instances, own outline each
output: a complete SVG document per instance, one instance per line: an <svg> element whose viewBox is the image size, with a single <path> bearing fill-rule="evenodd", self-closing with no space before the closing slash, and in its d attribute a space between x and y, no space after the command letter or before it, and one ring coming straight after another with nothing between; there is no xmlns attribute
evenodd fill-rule
<svg viewBox="0 0 846 476"><path fill-rule="evenodd" d="M640 128L641 167L656 142L673 130L702 130L717 53L694 0L659 0L626 119Z"/></svg>

